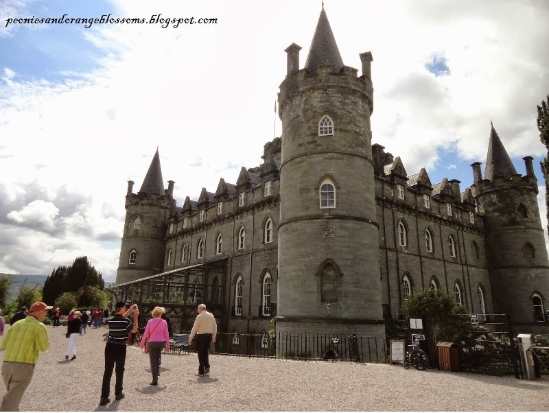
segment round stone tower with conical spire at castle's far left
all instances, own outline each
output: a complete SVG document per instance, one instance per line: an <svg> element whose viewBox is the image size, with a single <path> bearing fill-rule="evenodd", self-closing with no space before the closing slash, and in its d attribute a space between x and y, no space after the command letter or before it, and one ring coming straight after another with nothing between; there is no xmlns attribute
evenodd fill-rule
<svg viewBox="0 0 549 413"><path fill-rule="evenodd" d="M135 281L163 270L167 217L175 208L174 183L168 181L168 189L165 191L158 150L137 194L132 193L134 182L128 180L126 221L116 274L117 284Z"/></svg>

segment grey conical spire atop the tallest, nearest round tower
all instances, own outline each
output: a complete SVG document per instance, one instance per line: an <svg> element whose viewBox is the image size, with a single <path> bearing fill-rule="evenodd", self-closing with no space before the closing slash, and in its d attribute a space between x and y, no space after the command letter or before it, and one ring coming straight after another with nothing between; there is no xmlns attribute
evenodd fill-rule
<svg viewBox="0 0 549 413"><path fill-rule="evenodd" d="M316 73L316 67L319 64L331 64L336 72L339 72L343 67L343 60L334 33L331 31L324 4L316 24L311 49L309 49L307 61L305 62L305 69L309 73Z"/></svg>

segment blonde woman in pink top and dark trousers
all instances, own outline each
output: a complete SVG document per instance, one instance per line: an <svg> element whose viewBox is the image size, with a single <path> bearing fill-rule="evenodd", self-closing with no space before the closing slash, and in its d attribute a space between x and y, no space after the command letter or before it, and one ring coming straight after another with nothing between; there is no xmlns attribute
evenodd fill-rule
<svg viewBox="0 0 549 413"><path fill-rule="evenodd" d="M170 350L170 335L167 332L167 323L160 318L162 313L162 307L154 307L152 310L153 318L148 321L143 338L141 338L141 343L139 343L139 347L143 349L145 341L149 339L149 359L150 370L152 372L151 386L159 384L160 356L164 347Z"/></svg>

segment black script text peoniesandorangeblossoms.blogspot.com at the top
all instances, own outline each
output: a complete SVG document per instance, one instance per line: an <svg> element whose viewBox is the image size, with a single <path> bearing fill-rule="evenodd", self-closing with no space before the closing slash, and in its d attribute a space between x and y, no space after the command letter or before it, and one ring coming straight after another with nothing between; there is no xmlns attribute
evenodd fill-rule
<svg viewBox="0 0 549 413"><path fill-rule="evenodd" d="M161 14L152 14L150 18L128 18L128 17L113 17L111 14L103 14L101 17L70 17L69 14L63 14L60 17L8 17L5 19L5 27L8 25L62 25L75 24L84 25L89 29L92 25L102 24L152 24L160 25L163 29L173 27L177 29L180 25L211 25L218 24L218 19L215 18L196 18L192 17L164 17Z"/></svg>

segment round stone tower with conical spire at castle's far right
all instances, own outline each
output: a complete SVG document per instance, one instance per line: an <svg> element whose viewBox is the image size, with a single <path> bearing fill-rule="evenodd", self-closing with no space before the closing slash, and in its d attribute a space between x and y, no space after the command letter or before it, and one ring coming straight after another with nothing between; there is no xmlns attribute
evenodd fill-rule
<svg viewBox="0 0 549 413"><path fill-rule="evenodd" d="M526 156L526 176L517 174L493 125L484 170L474 163L474 196L478 211L486 215L487 254L494 311L511 314L513 324L533 324L533 297L547 308L549 261L537 207L537 179L533 158ZM480 293L477 292L477 294ZM477 300L477 303L480 299ZM480 311L480 304L474 310ZM489 311L486 311L489 312Z"/></svg>

